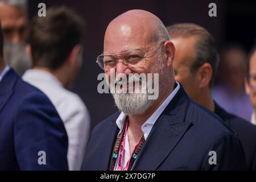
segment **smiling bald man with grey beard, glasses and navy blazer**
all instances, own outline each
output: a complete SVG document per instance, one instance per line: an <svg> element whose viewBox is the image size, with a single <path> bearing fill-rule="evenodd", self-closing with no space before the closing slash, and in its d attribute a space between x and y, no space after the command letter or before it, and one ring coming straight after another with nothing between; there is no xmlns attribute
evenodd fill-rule
<svg viewBox="0 0 256 182"><path fill-rule="evenodd" d="M133 93L130 79L112 93L120 112L93 129L82 170L245 169L240 140L175 81L174 56L174 44L154 14L130 10L110 22L97 58L106 77L113 74L117 85L123 75L158 75L159 97L148 99L143 81L141 92Z"/></svg>

